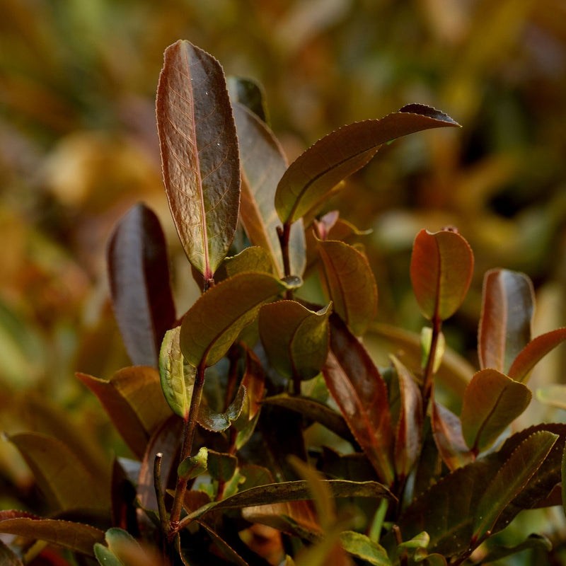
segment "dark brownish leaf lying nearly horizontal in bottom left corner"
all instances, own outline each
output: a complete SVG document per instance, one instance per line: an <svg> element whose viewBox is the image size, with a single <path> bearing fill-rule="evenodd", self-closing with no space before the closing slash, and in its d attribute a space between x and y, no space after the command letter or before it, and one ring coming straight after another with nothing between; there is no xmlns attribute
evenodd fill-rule
<svg viewBox="0 0 566 566"><path fill-rule="evenodd" d="M103 531L93 526L42 519L21 511L0 511L0 533L45 541L88 556L93 555L95 543L104 541Z"/></svg>

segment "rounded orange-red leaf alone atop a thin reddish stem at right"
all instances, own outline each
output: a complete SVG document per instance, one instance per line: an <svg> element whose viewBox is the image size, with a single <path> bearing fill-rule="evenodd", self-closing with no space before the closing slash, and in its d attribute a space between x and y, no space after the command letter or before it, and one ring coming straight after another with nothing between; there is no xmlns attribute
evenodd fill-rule
<svg viewBox="0 0 566 566"><path fill-rule="evenodd" d="M410 276L425 318L446 320L462 304L473 272L473 253L460 234L421 230L412 247Z"/></svg>

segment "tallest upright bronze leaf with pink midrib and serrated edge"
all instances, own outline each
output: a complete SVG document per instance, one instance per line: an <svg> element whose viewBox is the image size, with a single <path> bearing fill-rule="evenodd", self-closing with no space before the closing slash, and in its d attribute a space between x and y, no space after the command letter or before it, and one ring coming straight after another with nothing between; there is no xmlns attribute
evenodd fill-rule
<svg viewBox="0 0 566 566"><path fill-rule="evenodd" d="M236 233L238 138L224 71L185 40L170 45L156 100L163 182L187 258L212 279Z"/></svg>

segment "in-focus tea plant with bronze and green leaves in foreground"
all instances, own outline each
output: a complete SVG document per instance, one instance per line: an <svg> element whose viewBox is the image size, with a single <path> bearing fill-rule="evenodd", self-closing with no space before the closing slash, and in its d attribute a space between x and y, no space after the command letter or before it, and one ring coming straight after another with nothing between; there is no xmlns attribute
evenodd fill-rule
<svg viewBox="0 0 566 566"><path fill-rule="evenodd" d="M375 331L377 289L352 243L359 231L337 212L318 216L383 144L456 122L408 105L338 129L287 166L263 104L250 81L227 88L189 42L166 50L163 180L202 294L176 320L161 226L133 207L108 265L134 365L110 381L77 374L132 458L110 466L72 431L12 435L54 512L0 512L0 531L16 536L0 544L3 564L436 566L550 552L542 535L485 541L522 509L562 504L566 425L509 427L531 400L531 369L566 329L531 338L531 282L490 271L480 369L455 369L442 323L466 296L473 254L456 229L423 230L410 277L430 326L420 338L391 329L397 347L379 369L362 338ZM306 277L325 304L301 299ZM313 440L313 423L335 446ZM275 531L261 538L260 525Z"/></svg>

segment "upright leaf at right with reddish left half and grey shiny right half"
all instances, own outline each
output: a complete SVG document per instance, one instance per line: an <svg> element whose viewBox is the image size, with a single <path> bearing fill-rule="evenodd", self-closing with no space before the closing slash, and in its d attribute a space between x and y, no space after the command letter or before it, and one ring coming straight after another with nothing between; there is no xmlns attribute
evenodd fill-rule
<svg viewBox="0 0 566 566"><path fill-rule="evenodd" d="M485 274L478 330L481 369L509 371L517 354L531 340L533 310L533 284L524 273L491 270Z"/></svg>

